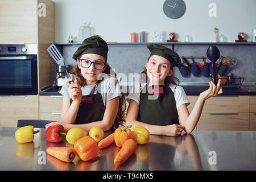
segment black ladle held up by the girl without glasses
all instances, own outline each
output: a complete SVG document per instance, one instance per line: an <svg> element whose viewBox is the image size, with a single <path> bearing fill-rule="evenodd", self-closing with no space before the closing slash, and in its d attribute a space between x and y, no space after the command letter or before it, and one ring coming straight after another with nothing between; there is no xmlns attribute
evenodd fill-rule
<svg viewBox="0 0 256 182"><path fill-rule="evenodd" d="M207 57L213 63L213 78L214 84L217 85L218 78L217 78L217 68L216 68L216 61L220 57L220 51L216 46L209 46L207 49Z"/></svg>

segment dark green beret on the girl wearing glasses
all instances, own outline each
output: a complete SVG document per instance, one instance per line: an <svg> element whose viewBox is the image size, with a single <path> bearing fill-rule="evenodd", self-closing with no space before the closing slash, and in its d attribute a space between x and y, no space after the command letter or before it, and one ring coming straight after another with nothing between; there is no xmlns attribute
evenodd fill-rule
<svg viewBox="0 0 256 182"><path fill-rule="evenodd" d="M77 61L81 55L86 53L95 53L105 57L105 61L108 58L108 44L99 36L91 36L82 42L82 45L76 50L73 55L73 59Z"/></svg>

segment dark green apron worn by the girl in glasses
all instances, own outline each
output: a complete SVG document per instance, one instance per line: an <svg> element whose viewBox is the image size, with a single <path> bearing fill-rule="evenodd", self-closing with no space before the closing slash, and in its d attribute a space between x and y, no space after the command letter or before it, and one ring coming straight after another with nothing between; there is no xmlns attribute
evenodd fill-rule
<svg viewBox="0 0 256 182"><path fill-rule="evenodd" d="M98 88L98 83L96 85L96 90ZM72 99L70 102L72 103ZM90 94L82 96L82 100L79 105L79 110L77 111L76 121L74 124L85 124L94 121L101 121L103 119L105 112L105 106L101 97L101 94Z"/></svg>

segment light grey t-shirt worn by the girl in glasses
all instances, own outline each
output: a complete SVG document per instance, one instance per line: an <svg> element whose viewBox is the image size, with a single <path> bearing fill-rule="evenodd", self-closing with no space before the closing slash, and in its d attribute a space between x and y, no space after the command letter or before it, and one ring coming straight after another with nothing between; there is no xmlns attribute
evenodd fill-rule
<svg viewBox="0 0 256 182"><path fill-rule="evenodd" d="M67 80L67 77L65 77L64 81L65 80ZM73 80L75 80L75 79L73 79ZM82 96L96 94L97 93L96 85L97 85L97 83L93 84L93 85L82 86L81 87ZM118 83L117 79L115 79L114 77L109 77L109 78L106 78L105 80L101 81L98 84L98 92L102 96L102 101L104 103L104 106L106 106L106 102L108 102L109 100L112 100L115 97L122 96L119 83ZM63 96L65 96L69 99L71 98L71 97L69 97L69 94L68 94L68 84L66 84L66 82L64 82L63 87L61 88L60 94L62 94Z"/></svg>

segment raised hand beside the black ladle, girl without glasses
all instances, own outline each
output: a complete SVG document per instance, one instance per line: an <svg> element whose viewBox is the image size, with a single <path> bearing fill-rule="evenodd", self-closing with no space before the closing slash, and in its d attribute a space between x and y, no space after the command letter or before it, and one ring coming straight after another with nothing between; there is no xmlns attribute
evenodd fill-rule
<svg viewBox="0 0 256 182"><path fill-rule="evenodd" d="M201 98L203 101L207 100L210 97L214 97L223 93L223 90L220 86L220 79L218 80L217 85L215 85L212 81L209 82L209 85L210 85L210 88L200 93L199 95L199 98Z"/></svg>

